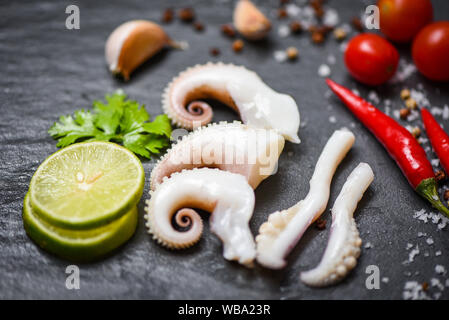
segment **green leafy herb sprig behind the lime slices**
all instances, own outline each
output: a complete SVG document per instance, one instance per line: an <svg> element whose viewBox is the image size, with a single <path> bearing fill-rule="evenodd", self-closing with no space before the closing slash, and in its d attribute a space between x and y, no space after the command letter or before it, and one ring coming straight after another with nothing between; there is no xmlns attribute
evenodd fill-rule
<svg viewBox="0 0 449 320"><path fill-rule="evenodd" d="M158 154L170 144L171 125L166 115L150 122L143 105L127 99L123 91L106 95L106 103L94 101L93 110L78 110L73 116L61 116L48 133L64 148L81 141L121 143L145 158Z"/></svg>

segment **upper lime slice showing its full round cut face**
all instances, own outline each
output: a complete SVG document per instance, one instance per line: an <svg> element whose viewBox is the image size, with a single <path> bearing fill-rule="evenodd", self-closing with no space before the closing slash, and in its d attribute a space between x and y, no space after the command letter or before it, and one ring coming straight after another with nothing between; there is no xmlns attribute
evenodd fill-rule
<svg viewBox="0 0 449 320"><path fill-rule="evenodd" d="M30 183L41 219L66 229L89 229L118 219L142 196L145 174L128 149L110 142L73 144L48 157Z"/></svg>

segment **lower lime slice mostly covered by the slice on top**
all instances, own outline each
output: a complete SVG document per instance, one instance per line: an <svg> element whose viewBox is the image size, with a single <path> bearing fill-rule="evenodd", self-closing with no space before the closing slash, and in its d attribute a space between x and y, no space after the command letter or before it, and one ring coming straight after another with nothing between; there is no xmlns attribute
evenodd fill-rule
<svg viewBox="0 0 449 320"><path fill-rule="evenodd" d="M118 220L90 230L54 227L33 211L27 194L23 203L23 224L27 234L40 247L71 261L92 261L125 243L137 225L137 207Z"/></svg>

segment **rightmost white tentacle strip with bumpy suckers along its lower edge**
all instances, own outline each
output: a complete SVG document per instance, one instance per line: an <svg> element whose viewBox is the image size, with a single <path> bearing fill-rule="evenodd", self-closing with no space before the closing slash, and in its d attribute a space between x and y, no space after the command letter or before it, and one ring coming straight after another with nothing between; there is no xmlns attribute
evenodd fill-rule
<svg viewBox="0 0 449 320"><path fill-rule="evenodd" d="M300 275L308 286L335 284L356 266L362 240L353 216L373 179L373 170L366 163L360 163L349 175L332 208L331 234L323 258L316 268Z"/></svg>

